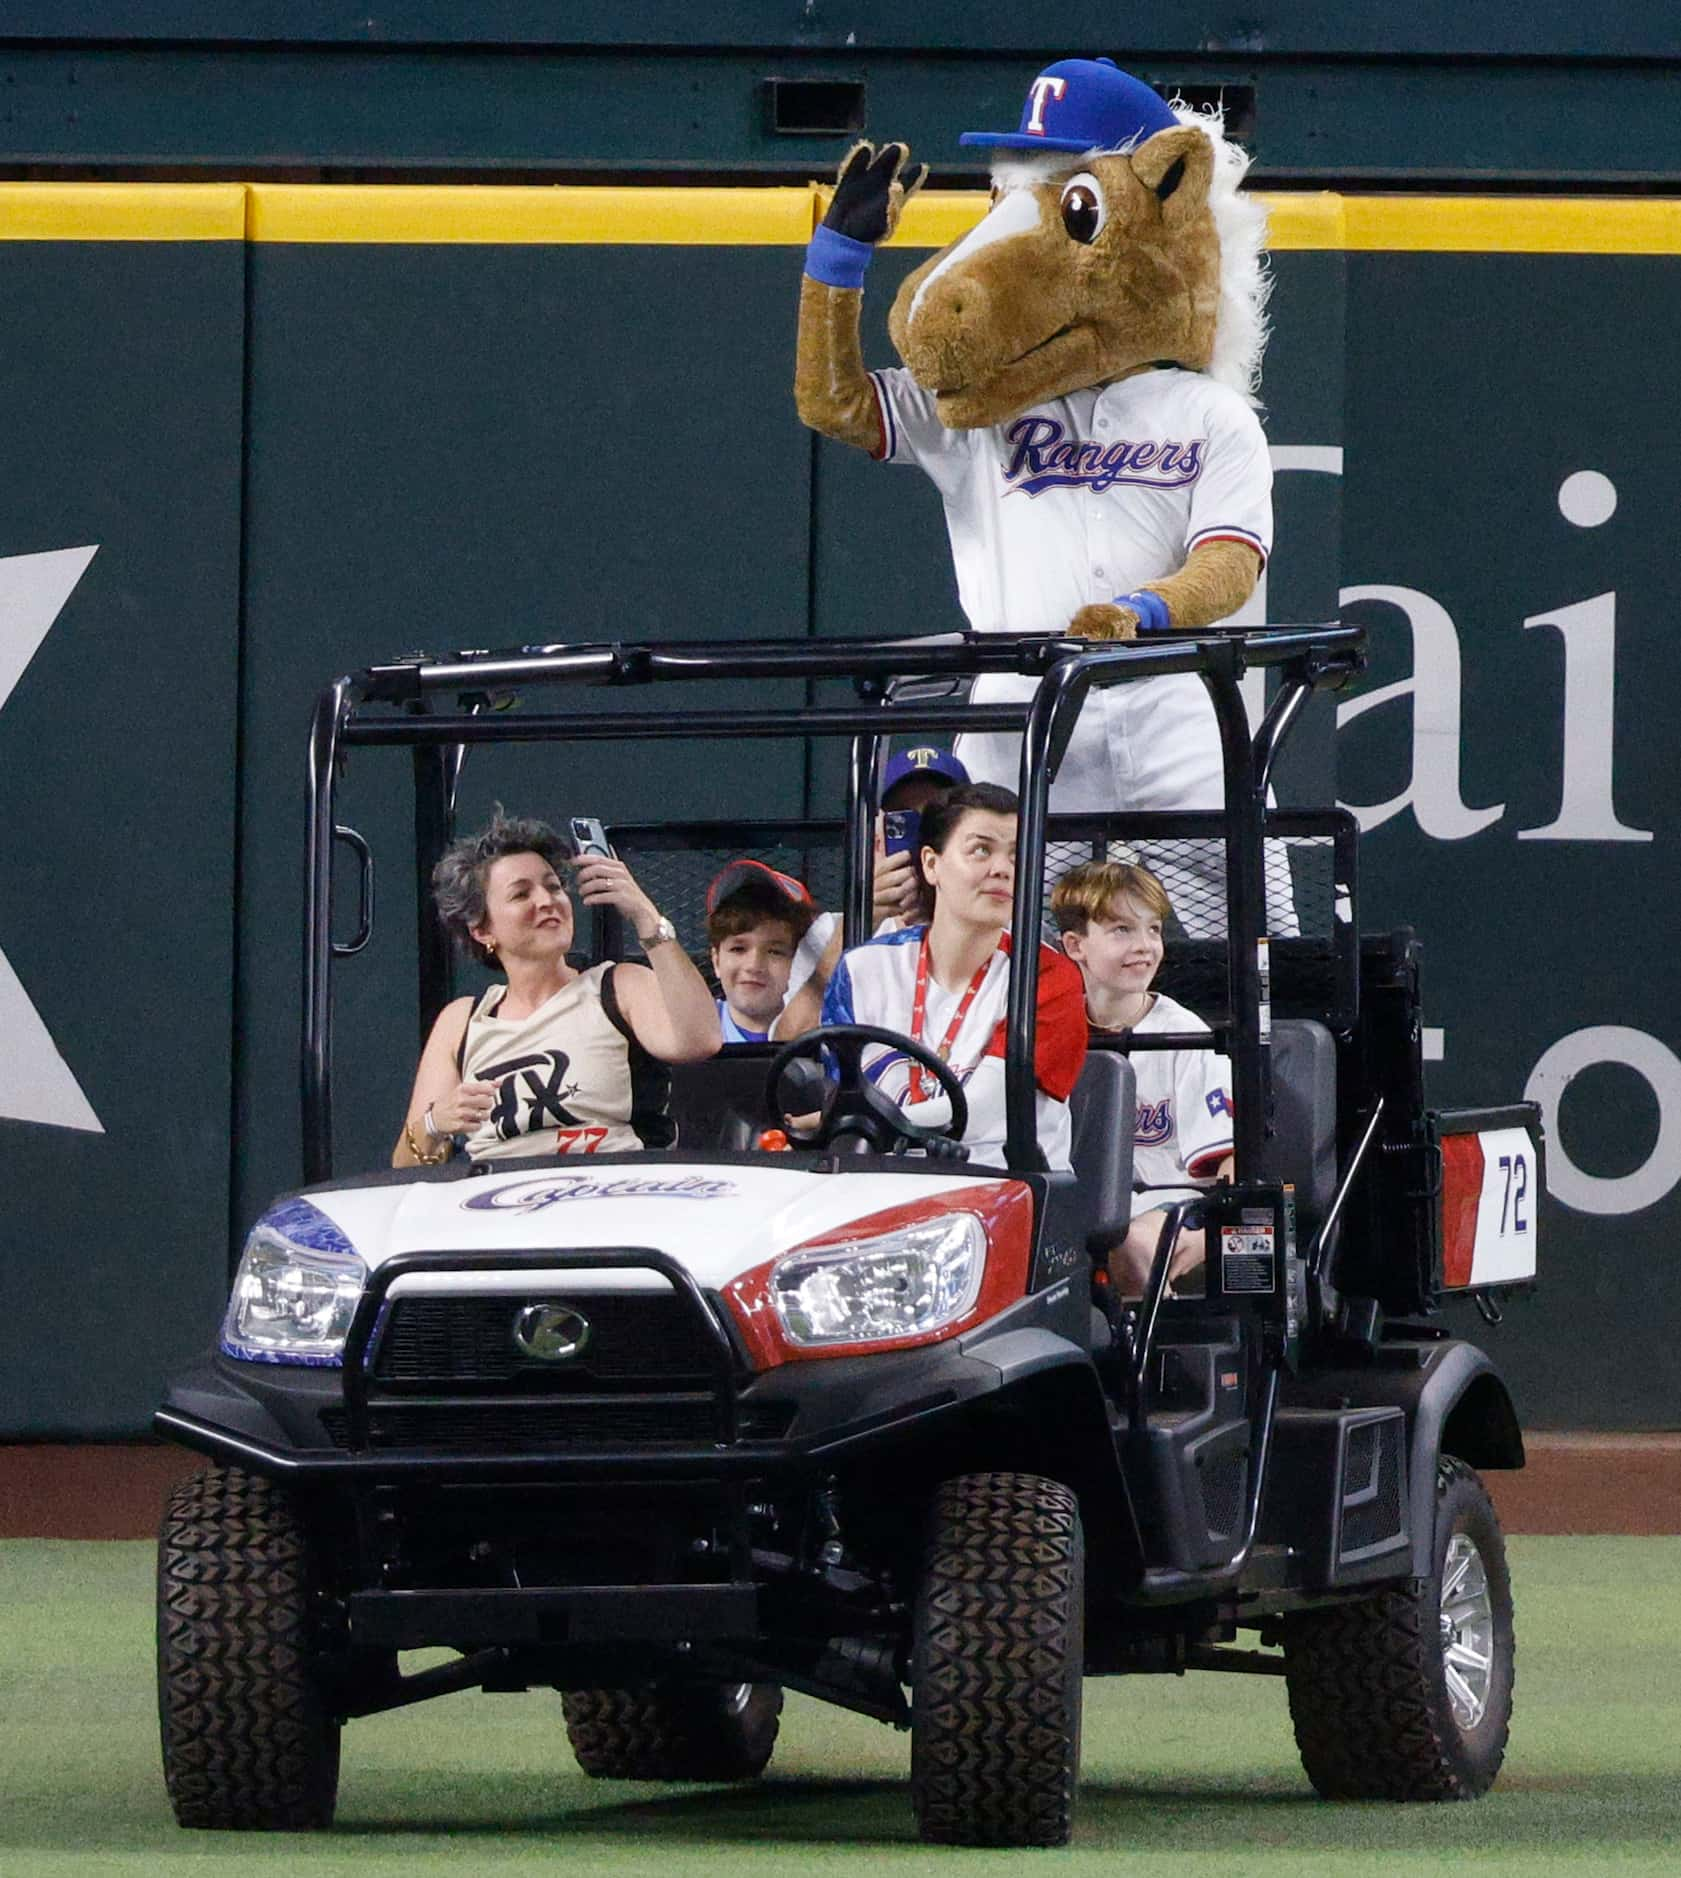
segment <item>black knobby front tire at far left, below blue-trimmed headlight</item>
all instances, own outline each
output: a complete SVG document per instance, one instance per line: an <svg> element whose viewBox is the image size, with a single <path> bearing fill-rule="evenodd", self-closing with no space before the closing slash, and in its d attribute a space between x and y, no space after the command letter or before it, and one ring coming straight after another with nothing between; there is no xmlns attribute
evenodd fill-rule
<svg viewBox="0 0 1681 1878"><path fill-rule="evenodd" d="M158 1538L158 1722L180 1825L332 1824L338 1720L314 1679L316 1549L287 1495L237 1467L171 1493Z"/></svg>

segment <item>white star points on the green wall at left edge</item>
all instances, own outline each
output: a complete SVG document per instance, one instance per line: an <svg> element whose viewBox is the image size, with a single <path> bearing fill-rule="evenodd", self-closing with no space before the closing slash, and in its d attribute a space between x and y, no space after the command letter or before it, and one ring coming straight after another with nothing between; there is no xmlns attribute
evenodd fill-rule
<svg viewBox="0 0 1681 1878"><path fill-rule="evenodd" d="M86 573L94 548L0 558L0 710ZM105 1125L0 952L0 1116L103 1134Z"/></svg>

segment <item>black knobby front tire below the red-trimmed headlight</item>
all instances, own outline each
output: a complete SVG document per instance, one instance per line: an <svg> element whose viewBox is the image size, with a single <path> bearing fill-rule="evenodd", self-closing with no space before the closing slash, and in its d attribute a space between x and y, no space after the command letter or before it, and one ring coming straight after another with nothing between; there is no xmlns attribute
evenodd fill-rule
<svg viewBox="0 0 1681 1878"><path fill-rule="evenodd" d="M1074 1493L1039 1474L945 1482L911 1649L911 1799L926 1840L1069 1842L1084 1636Z"/></svg>

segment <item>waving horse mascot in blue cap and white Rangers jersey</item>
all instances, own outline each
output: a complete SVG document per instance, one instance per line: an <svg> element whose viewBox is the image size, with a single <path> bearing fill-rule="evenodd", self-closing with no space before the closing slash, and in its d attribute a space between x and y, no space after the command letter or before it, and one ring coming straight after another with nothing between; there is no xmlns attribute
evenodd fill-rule
<svg viewBox="0 0 1681 1878"><path fill-rule="evenodd" d="M1255 417L1266 216L1221 124L1110 60L1029 86L995 150L992 208L900 289L903 366L866 372L864 272L924 169L858 145L806 257L794 396L823 436L917 464L947 511L958 595L982 633L1204 627L1251 595L1272 546ZM982 678L975 697L1031 680ZM1014 783L1014 740L971 734L977 779ZM1195 676L1095 693L1061 809L1217 808L1219 738Z"/></svg>

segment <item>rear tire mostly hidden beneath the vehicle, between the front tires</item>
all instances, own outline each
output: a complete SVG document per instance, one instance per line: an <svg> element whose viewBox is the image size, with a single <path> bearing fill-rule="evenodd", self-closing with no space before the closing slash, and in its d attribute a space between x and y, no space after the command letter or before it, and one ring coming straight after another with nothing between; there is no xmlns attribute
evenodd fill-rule
<svg viewBox="0 0 1681 1878"><path fill-rule="evenodd" d="M565 1732L597 1780L753 1780L781 1726L776 1683L573 1688Z"/></svg>

